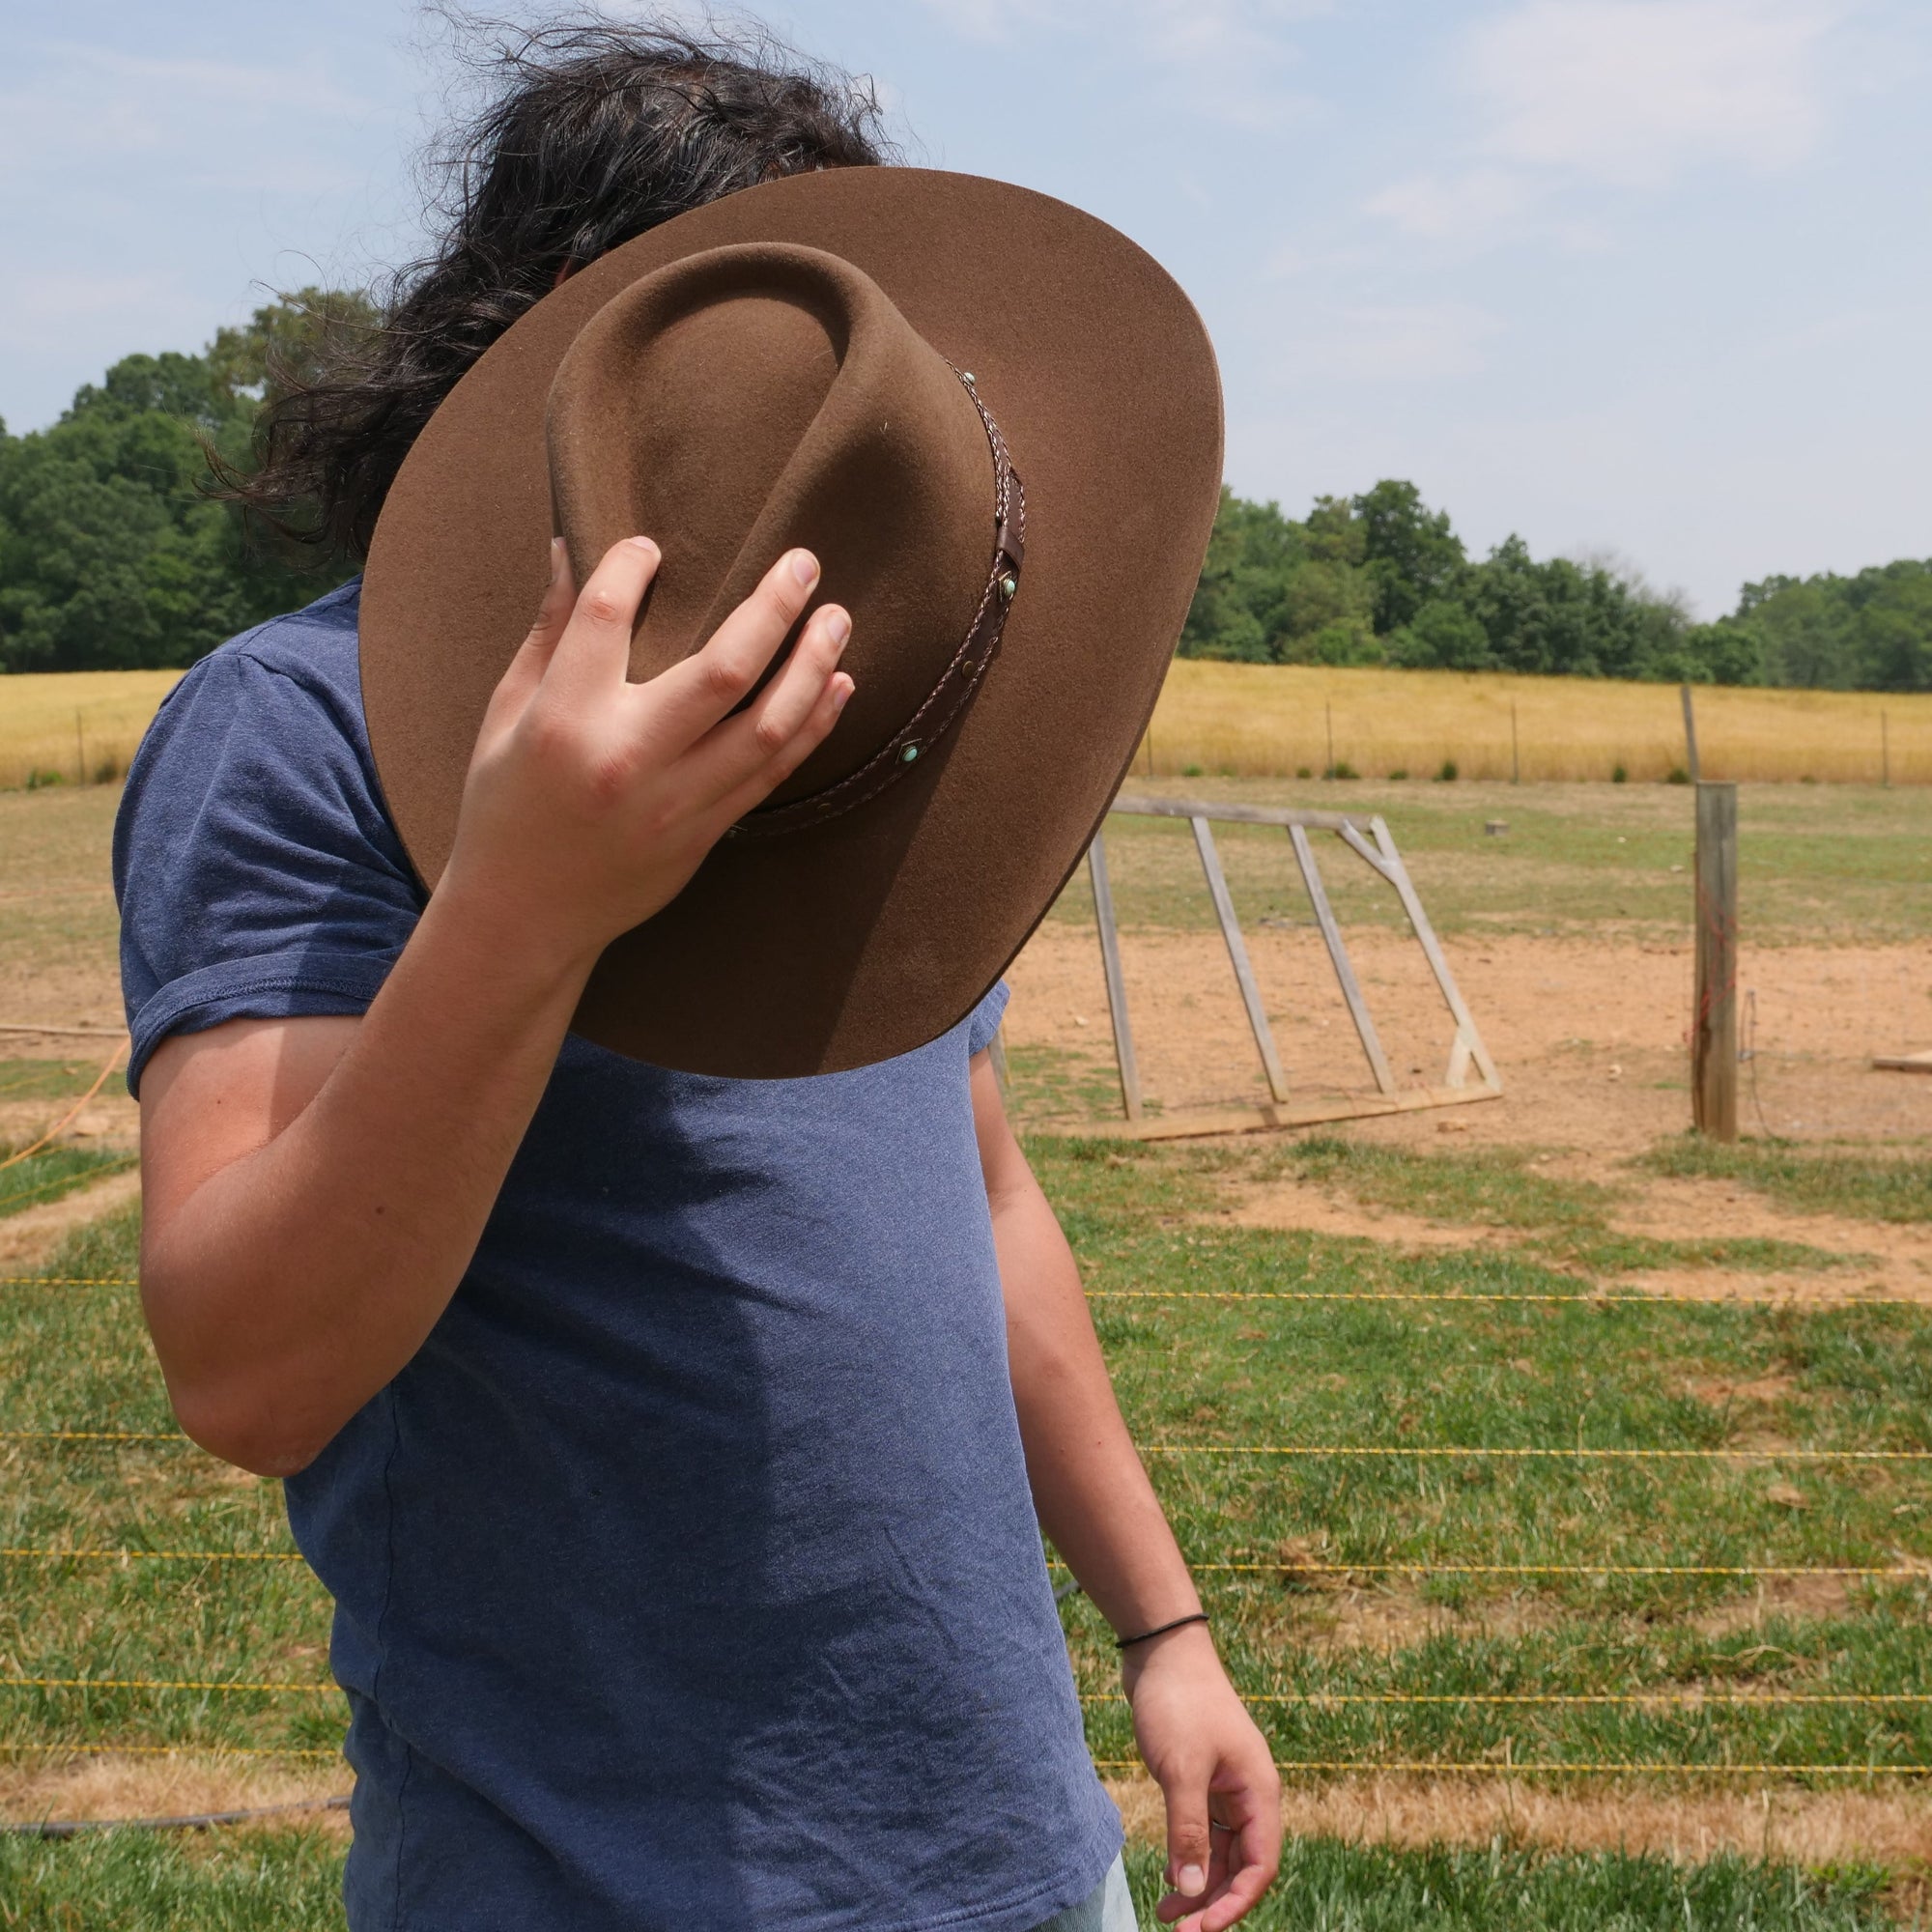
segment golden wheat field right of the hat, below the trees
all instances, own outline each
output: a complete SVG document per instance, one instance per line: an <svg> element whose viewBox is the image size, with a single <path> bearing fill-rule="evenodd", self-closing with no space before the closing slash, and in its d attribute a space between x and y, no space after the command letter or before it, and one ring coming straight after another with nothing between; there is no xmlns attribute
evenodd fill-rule
<svg viewBox="0 0 1932 1932"><path fill-rule="evenodd" d="M1932 696L1698 686L1694 699L1706 779L1932 784ZM1509 779L1513 755L1526 782L1609 779L1617 765L1633 782L1663 779L1685 765L1677 686L1182 661L1136 769L1294 777L1343 763L1426 779L1453 759L1464 779Z"/></svg>

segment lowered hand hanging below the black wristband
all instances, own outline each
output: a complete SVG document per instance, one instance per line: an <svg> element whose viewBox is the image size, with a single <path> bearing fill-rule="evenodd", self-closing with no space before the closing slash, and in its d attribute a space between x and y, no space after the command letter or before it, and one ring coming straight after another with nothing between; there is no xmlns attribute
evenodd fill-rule
<svg viewBox="0 0 1932 1932"><path fill-rule="evenodd" d="M1221 1669L1208 1627L1124 1654L1140 1754L1167 1801L1167 1882L1155 1907L1175 1932L1223 1932L1281 1866L1281 1777Z"/></svg>

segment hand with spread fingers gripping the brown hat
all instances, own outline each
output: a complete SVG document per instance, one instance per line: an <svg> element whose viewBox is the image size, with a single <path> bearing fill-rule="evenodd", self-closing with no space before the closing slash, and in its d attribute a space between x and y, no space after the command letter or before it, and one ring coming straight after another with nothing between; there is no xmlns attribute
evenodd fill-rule
<svg viewBox="0 0 1932 1932"><path fill-rule="evenodd" d="M628 682L649 537L605 553L582 595L564 545L529 638L491 697L439 895L587 972L618 933L668 904L724 831L823 744L852 680L852 620L811 612L779 674L746 705L819 582L788 551L717 634L647 684Z"/></svg>

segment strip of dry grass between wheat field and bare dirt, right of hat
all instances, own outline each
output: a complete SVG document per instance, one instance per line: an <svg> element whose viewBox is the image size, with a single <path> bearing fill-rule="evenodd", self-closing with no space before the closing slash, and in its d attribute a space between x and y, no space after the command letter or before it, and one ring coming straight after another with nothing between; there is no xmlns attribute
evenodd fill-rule
<svg viewBox="0 0 1932 1932"><path fill-rule="evenodd" d="M1445 933L1602 935L1687 941L1692 929L1692 794L1662 784L1320 784L1161 779L1130 792L1383 813L1430 920ZM1505 819L1490 837L1484 823ZM1882 945L1932 933L1924 800L1911 788L1739 786L1739 902L1750 945L1816 945L1855 933ZM1397 925L1393 891L1329 833L1316 858L1345 925ZM1215 825L1242 923L1308 925L1287 835ZM1122 925L1213 927L1184 819L1115 815L1107 864ZM1086 869L1053 918L1090 923ZM1932 1024L1932 1003L1920 1014Z"/></svg>

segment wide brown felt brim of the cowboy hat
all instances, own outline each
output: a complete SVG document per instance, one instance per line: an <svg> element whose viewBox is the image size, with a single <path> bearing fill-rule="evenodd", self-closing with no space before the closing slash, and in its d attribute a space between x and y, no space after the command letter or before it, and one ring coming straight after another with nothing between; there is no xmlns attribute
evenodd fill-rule
<svg viewBox="0 0 1932 1932"><path fill-rule="evenodd" d="M935 755L842 817L721 842L605 951L574 1018L661 1066L790 1078L947 1032L1078 866L1186 618L1219 500L1221 386L1208 332L1159 263L1066 203L978 176L792 176L589 263L442 402L371 545L369 742L429 887L491 690L549 576L551 377L618 290L740 242L798 242L864 269L974 371L1026 483L1024 583Z"/></svg>

